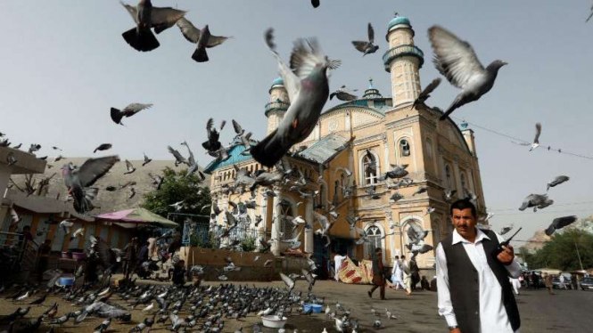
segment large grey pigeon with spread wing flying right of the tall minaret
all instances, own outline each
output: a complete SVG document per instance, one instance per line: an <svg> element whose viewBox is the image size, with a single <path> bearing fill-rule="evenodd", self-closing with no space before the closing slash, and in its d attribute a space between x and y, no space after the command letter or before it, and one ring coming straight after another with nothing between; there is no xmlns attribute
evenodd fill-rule
<svg viewBox="0 0 593 333"><path fill-rule="evenodd" d="M460 106L480 99L494 85L498 69L507 65L505 61L492 61L484 69L469 43L460 40L445 28L432 26L428 37L434 50L434 65L451 85L461 89L455 100L441 116L445 120Z"/></svg>

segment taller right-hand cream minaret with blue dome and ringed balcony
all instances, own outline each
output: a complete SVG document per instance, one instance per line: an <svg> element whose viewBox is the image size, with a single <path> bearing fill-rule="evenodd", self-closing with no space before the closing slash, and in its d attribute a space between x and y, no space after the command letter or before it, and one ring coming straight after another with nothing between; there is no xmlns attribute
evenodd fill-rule
<svg viewBox="0 0 593 333"><path fill-rule="evenodd" d="M424 53L414 45L414 30L405 16L389 22L387 36L389 50L383 54L385 70L391 73L393 107L414 102L420 94L418 69L424 63Z"/></svg>

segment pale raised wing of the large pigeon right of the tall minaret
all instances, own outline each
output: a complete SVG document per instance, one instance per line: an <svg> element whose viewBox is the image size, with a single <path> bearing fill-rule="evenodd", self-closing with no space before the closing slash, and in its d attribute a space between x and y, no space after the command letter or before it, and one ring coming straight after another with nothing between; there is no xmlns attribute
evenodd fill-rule
<svg viewBox="0 0 593 333"><path fill-rule="evenodd" d="M434 64L451 85L463 89L476 73L485 72L472 45L445 28L432 26L428 37L434 50Z"/></svg>

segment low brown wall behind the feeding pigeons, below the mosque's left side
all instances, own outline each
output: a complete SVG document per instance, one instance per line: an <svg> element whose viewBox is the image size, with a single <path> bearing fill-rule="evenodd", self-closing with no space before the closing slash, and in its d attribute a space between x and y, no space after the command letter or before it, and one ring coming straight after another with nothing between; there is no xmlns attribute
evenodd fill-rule
<svg viewBox="0 0 593 333"><path fill-rule="evenodd" d="M255 261L256 256L259 256L257 261ZM223 267L227 265L226 257L230 257L235 266L241 267L241 271L224 273L229 281L279 280L279 272L301 274L302 268L309 267L306 258L275 257L270 253L237 252L226 249L183 247L179 250L179 257L185 260L188 268L195 264L201 265L204 268L202 280L209 281L219 281L218 276L224 273ZM272 260L273 264L264 267L268 260Z"/></svg>

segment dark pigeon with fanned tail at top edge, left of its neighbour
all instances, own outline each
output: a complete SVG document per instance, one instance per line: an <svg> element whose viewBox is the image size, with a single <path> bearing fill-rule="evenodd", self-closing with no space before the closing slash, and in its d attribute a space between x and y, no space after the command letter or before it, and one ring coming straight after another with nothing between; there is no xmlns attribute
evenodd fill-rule
<svg viewBox="0 0 593 333"><path fill-rule="evenodd" d="M162 31L171 28L177 20L184 17L185 12L171 7L153 7L151 0L140 0L136 6L121 3L132 16L136 27L121 34L128 45L136 51L147 52L159 47L161 44L152 34L160 34Z"/></svg>

